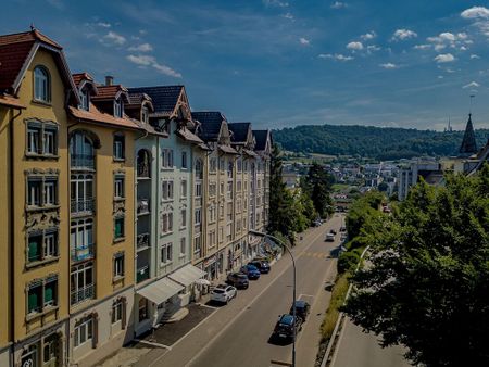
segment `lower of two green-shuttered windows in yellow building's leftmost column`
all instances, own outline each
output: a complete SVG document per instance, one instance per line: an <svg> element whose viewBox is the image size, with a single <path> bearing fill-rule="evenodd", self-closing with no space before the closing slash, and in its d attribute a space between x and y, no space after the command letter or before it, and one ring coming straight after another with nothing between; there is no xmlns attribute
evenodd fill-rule
<svg viewBox="0 0 489 367"><path fill-rule="evenodd" d="M36 280L27 289L27 314L37 314L58 304L58 277Z"/></svg>

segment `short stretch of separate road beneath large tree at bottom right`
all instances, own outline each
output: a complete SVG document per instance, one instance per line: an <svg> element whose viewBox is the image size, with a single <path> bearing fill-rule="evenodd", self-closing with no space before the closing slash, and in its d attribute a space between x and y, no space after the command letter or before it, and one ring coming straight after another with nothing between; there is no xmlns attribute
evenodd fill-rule
<svg viewBox="0 0 489 367"><path fill-rule="evenodd" d="M403 347L393 346L383 349L377 337L365 333L346 318L331 367L409 367L411 366L402 356Z"/></svg>

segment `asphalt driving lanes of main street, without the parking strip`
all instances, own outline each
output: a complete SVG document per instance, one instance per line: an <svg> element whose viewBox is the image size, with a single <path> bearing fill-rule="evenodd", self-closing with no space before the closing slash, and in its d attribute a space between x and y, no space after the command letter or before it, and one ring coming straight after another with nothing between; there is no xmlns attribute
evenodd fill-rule
<svg viewBox="0 0 489 367"><path fill-rule="evenodd" d="M336 230L342 224L342 217L336 215L321 230L304 243L293 250L297 266L297 295L318 308L315 300L322 299L327 274L335 271L336 262L328 258L329 251L338 245L339 233L334 243L325 242L326 232L330 228ZM288 256L285 254L285 256ZM289 262L281 260L280 262ZM273 274L262 277L276 277ZM271 366L271 360L291 362L292 344L276 344L271 341L272 331L280 314L288 313L292 303L292 268L291 263L283 270L269 287L263 290L241 314L203 347L187 366L196 367L239 367L239 366ZM260 280L259 280L260 281ZM251 284L253 287L253 284ZM244 291L246 292L246 291ZM243 293L244 293L243 292ZM323 298L324 299L324 298ZM321 305L319 305L321 306ZM326 305L322 305L324 313ZM317 352L318 328L323 317L312 313L298 334L297 366L312 366ZM311 345L313 346L311 349ZM308 349L306 353L301 353ZM313 351L313 352L312 352ZM312 352L312 355L311 355ZM308 359L305 362L304 359Z"/></svg>

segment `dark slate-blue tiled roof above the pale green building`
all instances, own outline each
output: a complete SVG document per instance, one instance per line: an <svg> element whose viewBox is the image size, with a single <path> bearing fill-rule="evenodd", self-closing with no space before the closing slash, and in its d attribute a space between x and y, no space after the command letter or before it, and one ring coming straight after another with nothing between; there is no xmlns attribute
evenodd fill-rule
<svg viewBox="0 0 489 367"><path fill-rule="evenodd" d="M184 86L156 86L129 88L129 93L146 93L151 97L154 113L158 116L170 116L174 111Z"/></svg>

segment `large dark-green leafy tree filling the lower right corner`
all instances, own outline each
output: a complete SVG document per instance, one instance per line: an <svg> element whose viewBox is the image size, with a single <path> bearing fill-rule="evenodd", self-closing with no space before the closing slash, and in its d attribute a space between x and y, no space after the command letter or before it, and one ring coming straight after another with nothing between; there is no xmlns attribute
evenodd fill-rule
<svg viewBox="0 0 489 367"><path fill-rule="evenodd" d="M489 366L489 167L425 182L362 228L369 265L343 311L413 364Z"/></svg>

